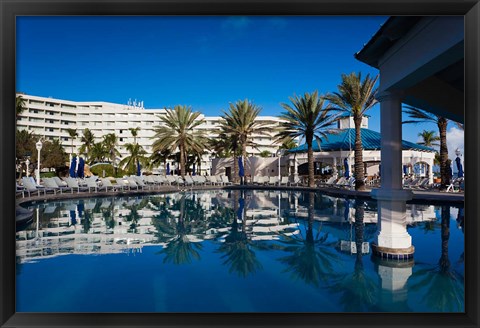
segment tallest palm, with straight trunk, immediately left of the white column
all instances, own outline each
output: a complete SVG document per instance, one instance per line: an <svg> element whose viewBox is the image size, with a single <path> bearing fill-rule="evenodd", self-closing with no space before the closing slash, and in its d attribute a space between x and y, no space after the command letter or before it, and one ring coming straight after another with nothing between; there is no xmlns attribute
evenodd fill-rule
<svg viewBox="0 0 480 328"><path fill-rule="evenodd" d="M338 92L325 96L337 110L347 112L353 116L355 124L355 190L365 190L363 146L362 146L362 119L366 111L377 103L375 95L378 75L370 78L367 74L362 81L362 73L352 72L342 74L342 83L337 86Z"/></svg>

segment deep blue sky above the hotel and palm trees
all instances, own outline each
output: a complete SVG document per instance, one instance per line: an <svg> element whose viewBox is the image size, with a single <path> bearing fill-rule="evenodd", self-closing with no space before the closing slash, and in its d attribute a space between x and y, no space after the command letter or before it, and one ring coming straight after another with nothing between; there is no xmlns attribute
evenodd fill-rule
<svg viewBox="0 0 480 328"><path fill-rule="evenodd" d="M354 53L387 17L18 17L17 91L220 115L248 98L279 115L294 94L378 71ZM379 105L368 113L379 131ZM404 126L404 139L434 125ZM462 143L463 144L463 143Z"/></svg>

